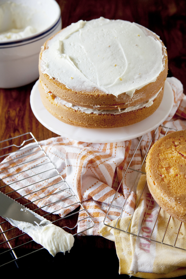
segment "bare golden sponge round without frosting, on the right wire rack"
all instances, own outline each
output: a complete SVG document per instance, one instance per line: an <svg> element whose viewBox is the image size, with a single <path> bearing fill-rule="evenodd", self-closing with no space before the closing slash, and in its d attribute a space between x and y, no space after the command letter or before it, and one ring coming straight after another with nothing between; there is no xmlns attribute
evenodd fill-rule
<svg viewBox="0 0 186 279"><path fill-rule="evenodd" d="M153 144L146 158L146 179L155 201L186 222L186 130Z"/></svg>

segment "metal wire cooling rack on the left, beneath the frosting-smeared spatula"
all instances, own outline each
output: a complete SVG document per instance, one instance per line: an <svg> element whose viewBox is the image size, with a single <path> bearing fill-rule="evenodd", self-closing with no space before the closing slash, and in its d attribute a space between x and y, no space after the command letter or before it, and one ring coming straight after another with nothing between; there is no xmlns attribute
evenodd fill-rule
<svg viewBox="0 0 186 279"><path fill-rule="evenodd" d="M32 202L30 202L29 199L27 199L27 194L25 194L24 196L21 196L20 194L18 194L16 192L16 190L13 190L11 188L11 183L8 183L7 180L3 181L4 179L0 179L0 191L3 192L4 194L10 196L11 198L13 198L15 201L17 201L18 203L26 206L27 208L35 211L37 214L40 214L41 216L45 217L46 219L49 219L50 221L52 221L52 223L54 223L57 226L60 226L61 228L63 228L64 230L66 230L67 232L70 232L71 234L73 234L74 236L80 233L85 232L85 230L88 230L90 228L92 228L95 223L94 221L91 219L90 215L87 213L87 211L83 208L82 204L80 203L80 201L78 200L78 198L76 197L76 195L73 193L72 189L69 187L69 185L66 183L66 181L62 178L62 176L60 175L60 173L58 172L58 170L56 169L55 165L53 164L53 162L51 162L50 158L47 156L47 154L45 153L45 151L42 149L42 146L37 142L37 140L35 139L35 137L33 136L32 133L26 133L17 137L12 137L8 140L4 140L0 142L0 168L1 168L1 174L2 172L6 172L7 171L7 166L6 163L3 163L3 160L5 158L8 157L8 155L12 154L13 152L21 152L22 155L19 154L19 156L17 156L17 158L15 158L13 160L13 165L12 165L12 169L14 168L15 165L20 166L22 165L22 163L20 163L20 158L26 156L26 150L28 149L28 147L26 147L27 144L31 144L30 147L30 155L40 158L40 163L37 164L36 166L33 166L32 168L30 168L30 165L32 163L32 161L28 161L28 170L33 170L34 169L34 173L36 173L34 175L34 183L40 183L43 180L47 180L50 179L51 177L55 177L55 180L58 180L56 184L60 185L60 190L59 192L63 192L63 191L67 191L69 192L69 196L65 196L64 199L70 199L71 203L69 206L66 206L65 208L63 208L64 210L69 210L70 206L75 206L76 209L72 212L70 212L69 214L67 214L67 216L65 217L60 217L59 215L57 215L58 210L53 211L52 213L48 213L45 210L46 205L38 208L35 204L33 204ZM33 153L32 153L32 150ZM37 151L35 151L37 150ZM25 154L24 154L25 153ZM38 154L38 156L37 156ZM44 167L44 171L43 171L43 167ZM40 171L42 169L42 172ZM11 172L11 170L8 170L9 172ZM25 174L27 170L24 170ZM51 174L52 172L52 174ZM13 171L12 171L13 173ZM21 174L21 172L17 172L16 173L16 180L19 183L26 183L25 181L28 181L28 177L26 177L25 181L19 180L17 178L17 176L19 176ZM11 178L11 181L14 181L14 177L15 174L12 174L10 176L8 176L8 178ZM30 181L33 180L32 177L30 177ZM54 183L54 182L53 182ZM29 187L31 184L25 184L25 188ZM50 187L53 187L55 184L51 184L49 186L47 186L48 192L50 192ZM45 187L46 188L46 187ZM41 189L39 189L38 191L40 191ZM58 192L58 193L59 193ZM32 193L33 195L35 195L37 197L37 190L35 192ZM51 194L52 195L52 194ZM49 194L50 196L50 194ZM42 201L43 198L46 198L46 196L43 196L42 198L40 198L40 200ZM37 201L37 199L36 199ZM60 200L62 202L62 200ZM54 201L54 203L59 203L59 200L56 202ZM50 204L51 205L51 204ZM47 205L48 206L48 205ZM70 211L70 210L69 210ZM82 218L81 220L78 221L78 214L81 212L81 216L85 216L84 218ZM85 219L88 219L89 222L89 228L81 230L78 229L77 232L77 227L78 228L83 228L83 226L81 226L81 222L85 221ZM26 249L24 249L26 248ZM22 253L20 254L20 249L22 251ZM31 252L28 252L29 249ZM26 255L30 255L31 253L34 253L36 251L39 251L41 249L44 249L41 245L35 243L31 237L29 237L28 235L26 235L25 233L22 233L22 231L20 231L18 228L12 227L12 225L6 221L5 219L3 219L2 217L0 217L0 267L10 263L10 262L14 262L16 260L18 260L19 258L22 258ZM19 255L18 255L19 254Z"/></svg>

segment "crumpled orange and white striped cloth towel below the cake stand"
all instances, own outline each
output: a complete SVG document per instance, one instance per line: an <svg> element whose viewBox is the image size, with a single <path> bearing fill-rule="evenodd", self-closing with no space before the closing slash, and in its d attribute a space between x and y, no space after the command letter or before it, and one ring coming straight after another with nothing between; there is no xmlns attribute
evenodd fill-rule
<svg viewBox="0 0 186 279"><path fill-rule="evenodd" d="M164 122L164 125L177 128L178 130L185 129L186 121L181 119L186 115L186 96L183 95L183 86L176 78L167 78L167 80L174 91L174 107L169 117ZM175 117L176 111L178 116ZM148 142L151 140L153 133L154 131L144 136L144 140L135 153L132 165L130 165L131 168L139 169L142 156L144 156L147 150ZM155 140L162 137L164 133L164 129L159 128L159 134L156 136ZM61 176L66 180L96 224L92 229L87 230L85 234L98 235L98 230L103 226L105 214L138 143L138 138L123 142L98 144L78 142L65 137L56 137L40 142L40 145L54 163ZM27 198L38 207L45 205L45 211L53 212L59 210L58 213L60 216L65 216L73 211L76 205L72 205L70 198L60 201L62 198L69 196L68 190L63 191L62 194L59 192L60 189L64 189L64 183L55 184L55 186L46 188L52 185L53 181L55 183L59 182L58 178L52 177L53 171L51 171L50 168L47 169L46 165L43 165L43 171L47 171L47 175L49 174L51 178L45 180L44 174L39 174L42 181L36 183L34 174L37 172L37 168L32 170L30 170L30 168L33 165L36 166L43 160L40 152L33 153L36 149L37 148L35 148L33 144L29 144L26 149L24 149L24 155L27 156L19 159L20 155L15 152L8 157L8 160L12 159L11 163L7 162L7 159L5 159L1 170L7 166L13 167L13 169L11 169L11 173L9 169L0 172L0 178L3 179L6 184L10 184L10 186L21 195L24 196L27 194ZM16 166L15 159L16 165L17 159L19 159L20 163L24 164ZM30 162L31 159L35 161ZM107 216L108 222L115 220L120 215L125 198L128 196L134 177L136 176L134 172L135 171L131 169L128 170L122 181L121 191L117 193L115 202L112 204L112 208L109 211L110 215ZM14 176L6 178L10 174L14 174ZM24 180L17 183L18 176L19 180L20 178ZM28 176L32 177L28 178ZM27 185L30 186L25 187ZM127 217L133 214L135 210L136 187L134 187L134 190L131 192L121 217ZM36 189L40 189L37 194L34 193ZM49 194L53 195L49 196ZM59 202L53 203L55 201ZM71 205L71 207L65 209L67 205ZM79 213L79 220L84 218L83 214L84 213ZM82 228L89 228L88 220L80 223L81 228L78 227L78 231L82 231Z"/></svg>

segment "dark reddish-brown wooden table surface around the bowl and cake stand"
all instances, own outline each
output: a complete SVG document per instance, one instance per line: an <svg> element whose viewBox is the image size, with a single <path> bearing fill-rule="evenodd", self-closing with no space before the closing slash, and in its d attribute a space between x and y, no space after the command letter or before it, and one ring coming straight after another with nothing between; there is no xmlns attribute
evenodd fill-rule
<svg viewBox="0 0 186 279"><path fill-rule="evenodd" d="M186 1L185 0L57 0L61 7L62 27L80 19L103 16L141 24L160 36L167 47L168 76L178 78L186 88ZM57 135L40 124L30 107L30 93L35 82L12 89L0 89L0 141L26 132L37 140ZM44 250L23 258L12 271L28 276L119 276L119 262L113 242L102 237L76 237L74 247L65 256L55 258ZM37 274L36 271L40 271ZM129 278L128 275L122 277ZM134 278L134 277L132 277Z"/></svg>

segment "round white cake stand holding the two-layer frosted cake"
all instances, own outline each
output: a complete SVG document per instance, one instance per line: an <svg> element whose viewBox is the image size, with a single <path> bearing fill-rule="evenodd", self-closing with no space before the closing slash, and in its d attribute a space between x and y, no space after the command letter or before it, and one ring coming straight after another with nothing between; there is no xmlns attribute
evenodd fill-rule
<svg viewBox="0 0 186 279"><path fill-rule="evenodd" d="M53 117L42 104L36 81L31 91L30 103L32 111L40 123L52 132L82 142L108 143L130 140L140 137L157 128L168 117L174 102L171 86L166 81L164 96L159 108L146 119L121 128L87 129L65 124Z"/></svg>

